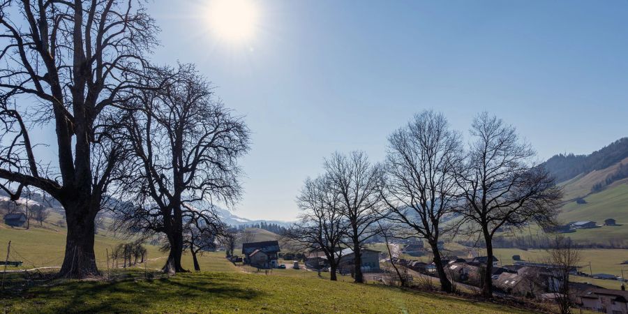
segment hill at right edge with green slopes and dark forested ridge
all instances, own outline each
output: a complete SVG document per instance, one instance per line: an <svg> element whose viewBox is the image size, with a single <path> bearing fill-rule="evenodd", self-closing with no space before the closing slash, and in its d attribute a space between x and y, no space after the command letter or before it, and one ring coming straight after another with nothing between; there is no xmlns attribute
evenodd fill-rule
<svg viewBox="0 0 628 314"><path fill-rule="evenodd" d="M556 155L543 165L565 193L562 223L617 221L614 226L572 232L571 239L607 248L628 246L628 137L589 155Z"/></svg>

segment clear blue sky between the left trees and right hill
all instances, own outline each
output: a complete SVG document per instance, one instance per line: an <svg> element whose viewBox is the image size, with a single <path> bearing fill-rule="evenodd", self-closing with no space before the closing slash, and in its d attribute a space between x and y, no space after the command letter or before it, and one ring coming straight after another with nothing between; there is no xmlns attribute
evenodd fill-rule
<svg viewBox="0 0 628 314"><path fill-rule="evenodd" d="M209 0L149 4L156 60L196 63L253 130L239 216L294 218L324 156L381 160L426 108L463 132L497 114L543 159L628 135L628 1L252 2L239 44L211 31Z"/></svg>

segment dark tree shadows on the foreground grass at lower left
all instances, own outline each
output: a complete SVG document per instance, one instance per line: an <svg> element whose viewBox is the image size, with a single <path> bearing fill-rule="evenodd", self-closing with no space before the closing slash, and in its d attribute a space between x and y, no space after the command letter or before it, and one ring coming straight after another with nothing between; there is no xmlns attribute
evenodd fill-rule
<svg viewBox="0 0 628 314"><path fill-rule="evenodd" d="M154 281L72 282L37 287L27 292L26 300L16 298L13 302L26 301L42 312L54 313L185 312L177 307L202 304L210 299L218 303L221 299L254 300L262 294L247 288L237 278L186 274ZM188 311L199 309L188 308Z"/></svg>

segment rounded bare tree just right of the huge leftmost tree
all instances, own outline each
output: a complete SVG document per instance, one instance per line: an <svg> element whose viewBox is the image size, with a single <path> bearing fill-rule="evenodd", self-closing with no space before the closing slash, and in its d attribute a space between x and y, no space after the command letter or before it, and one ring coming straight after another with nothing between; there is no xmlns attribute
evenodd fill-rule
<svg viewBox="0 0 628 314"><path fill-rule="evenodd" d="M214 98L192 65L155 70L151 76L154 84L165 82L163 89L140 91L125 117L123 136L134 164L124 190L133 206L119 210L119 221L127 230L163 232L170 248L163 271L186 271L181 267L184 216L207 202L239 199L238 159L248 151L249 130Z"/></svg>

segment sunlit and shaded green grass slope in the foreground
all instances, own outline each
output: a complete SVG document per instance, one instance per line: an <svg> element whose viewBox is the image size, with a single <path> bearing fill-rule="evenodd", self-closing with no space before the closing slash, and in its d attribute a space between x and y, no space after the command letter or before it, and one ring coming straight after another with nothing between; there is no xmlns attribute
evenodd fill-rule
<svg viewBox="0 0 628 314"><path fill-rule="evenodd" d="M246 274L218 253L220 271L179 274L146 281L143 273L114 282L82 281L34 287L28 298L0 299L0 307L23 313L527 313L499 304L382 285L331 282L293 272ZM298 278L298 281L295 281Z"/></svg>

